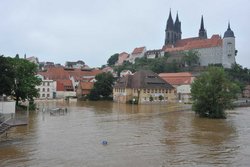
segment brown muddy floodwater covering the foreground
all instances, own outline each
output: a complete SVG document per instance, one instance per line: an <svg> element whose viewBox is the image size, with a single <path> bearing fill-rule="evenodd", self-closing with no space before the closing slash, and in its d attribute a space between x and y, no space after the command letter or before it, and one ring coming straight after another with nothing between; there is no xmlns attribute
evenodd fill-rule
<svg viewBox="0 0 250 167"><path fill-rule="evenodd" d="M63 106L65 115L42 112ZM28 126L1 137L0 166L250 166L250 108L211 120L186 107L40 102Z"/></svg>

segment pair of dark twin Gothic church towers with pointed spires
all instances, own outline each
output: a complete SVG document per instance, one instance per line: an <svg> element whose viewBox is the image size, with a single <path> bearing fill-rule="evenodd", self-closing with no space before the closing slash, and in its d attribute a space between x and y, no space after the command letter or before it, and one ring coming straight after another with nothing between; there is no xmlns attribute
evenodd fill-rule
<svg viewBox="0 0 250 167"><path fill-rule="evenodd" d="M170 10L165 29L164 45L174 45L176 41L180 39L181 39L181 22L179 21L178 13L176 15L176 20L174 22Z"/></svg>

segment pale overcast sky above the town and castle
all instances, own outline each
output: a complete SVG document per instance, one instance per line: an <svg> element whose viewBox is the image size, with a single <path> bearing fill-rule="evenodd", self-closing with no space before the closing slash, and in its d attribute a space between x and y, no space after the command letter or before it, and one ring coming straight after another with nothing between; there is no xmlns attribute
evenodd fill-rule
<svg viewBox="0 0 250 167"><path fill-rule="evenodd" d="M201 15L209 38L223 36L230 21L236 61L250 68L249 6L249 0L1 0L0 54L101 66L114 53L162 48L171 8L182 38L198 35Z"/></svg>

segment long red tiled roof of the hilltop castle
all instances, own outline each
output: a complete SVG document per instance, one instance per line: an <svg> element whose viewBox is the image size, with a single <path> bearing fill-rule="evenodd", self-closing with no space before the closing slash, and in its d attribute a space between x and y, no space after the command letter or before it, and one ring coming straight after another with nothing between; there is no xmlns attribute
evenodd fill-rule
<svg viewBox="0 0 250 167"><path fill-rule="evenodd" d="M187 38L176 42L175 47L163 46L165 52L185 51L200 48L210 48L222 45L219 35L213 35L210 39Z"/></svg>

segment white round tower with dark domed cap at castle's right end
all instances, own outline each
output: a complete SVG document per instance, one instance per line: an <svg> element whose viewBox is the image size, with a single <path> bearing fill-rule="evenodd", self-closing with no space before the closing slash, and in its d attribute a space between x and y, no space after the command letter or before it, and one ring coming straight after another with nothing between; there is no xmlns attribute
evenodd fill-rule
<svg viewBox="0 0 250 167"><path fill-rule="evenodd" d="M235 64L235 36L228 23L227 31L222 40L222 65L225 68L231 68Z"/></svg>

